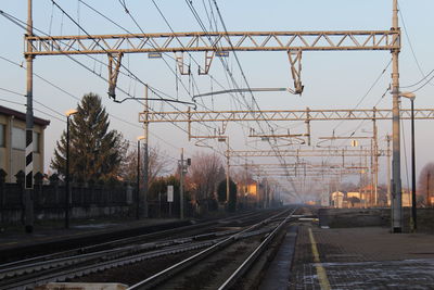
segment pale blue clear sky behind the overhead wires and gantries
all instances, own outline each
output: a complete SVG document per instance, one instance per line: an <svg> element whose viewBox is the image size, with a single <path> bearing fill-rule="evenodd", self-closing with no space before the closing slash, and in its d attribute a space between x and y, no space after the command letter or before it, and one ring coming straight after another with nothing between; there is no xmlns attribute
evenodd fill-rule
<svg viewBox="0 0 434 290"><path fill-rule="evenodd" d="M99 12L129 31L140 33L140 29L122 7L120 2L125 2L128 11L145 33L170 31L151 0L58 0L55 2L89 34L124 34L125 31L89 10L85 3L95 8ZM187 2L182 0L155 0L155 3L175 31L201 31L201 26ZM392 0L217 0L217 3L229 31L385 30L390 29L392 25ZM193 0L192 4L206 28L209 29L210 23L207 16L214 14L214 16L218 17L214 2L209 0ZM403 29L400 84L401 86L407 86L418 83L423 78L423 75L427 75L434 68L434 59L432 58L433 38L431 37L434 28L434 21L432 18L434 2L432 0L400 0L399 5L400 17L404 16L405 21L404 26L403 18L400 18L400 27ZM213 14L210 8L213 8ZM27 1L1 1L0 10L25 22L27 17ZM50 0L34 0L34 26L53 36L85 34L66 15L63 15L56 7L52 5ZM2 39L0 58L23 63L24 30L3 16L0 17L0 37ZM218 29L222 29L219 21ZM412 50L410 45L412 46ZM290 64L284 52L238 52L237 55L252 88L293 86ZM176 78L169 70L175 70L175 62L170 56L173 54L165 56L166 64L161 59L150 60L144 54L129 54L124 58L124 65L129 67L142 81L169 96L176 97ZM204 61L202 53L193 53L193 56L200 63ZM104 77L107 76L106 67L100 63L87 56L75 58L93 70L95 74L101 74ZM97 55L95 58L99 61L106 62L106 55ZM255 93L255 98L261 110L297 110L305 109L306 106L323 110L355 109L356 104L367 94L374 81L381 76L372 90L363 98L358 109L372 109L376 103L379 103L378 108L391 109L391 94L387 93L384 98L381 98L391 83L391 67L387 67L390 60L391 53L385 51L305 52L303 55L302 76L305 91L302 97L283 92L263 92ZM245 87L233 53L231 53L228 61L238 84L241 87ZM196 74L197 66L193 61L191 62L193 63L193 76L181 76L184 86L189 88L189 84L195 81L200 92L218 90L217 84L212 81L209 76L199 76ZM3 59L0 59L0 64L2 67L0 71L0 88L24 94L26 84L25 70L8 63ZM103 98L103 103L107 112L116 117L111 118L112 128L122 131L126 139L136 142L137 136L142 135L141 126L138 123L138 113L142 108L133 101L127 101L123 104L113 103L106 94L107 84L95 74L86 71L65 55L38 56L35 60L34 67L36 74L50 80L76 98L80 98L84 93L90 91L100 94ZM225 70L217 59L214 60L209 74L226 88L229 88ZM432 83L434 84L434 81ZM424 84L425 81L422 81L418 86L403 90L418 89ZM143 86L128 77L120 76L118 86L133 96L143 96ZM183 101L190 101L191 97L188 90L183 90L181 84L178 84L178 87L179 98ZM433 108L433 91L432 84L427 84L418 90L416 108ZM1 91L0 93L1 105L25 111L24 105L4 101L9 100L24 104L25 98L21 99L18 96L5 91ZM192 93L191 89L190 93ZM72 96L47 85L38 78L35 78L34 96L35 100L60 113L75 108L77 104L77 100ZM125 97L120 91L117 91L117 96L118 98ZM204 104L208 109L238 110L240 109L238 101L228 96L216 96L213 99L204 99ZM156 111L173 111L170 106L161 102L153 102L151 106ZM183 105L177 106L180 110L186 110ZM403 108L409 108L408 100L403 100ZM40 104L35 103L35 109L50 113L59 118L64 118ZM65 123L40 112L35 112L35 115L51 121L51 125L46 130L44 153L46 168L48 169L55 141L65 128ZM128 123L120 122L118 118ZM417 122L418 172L427 162L434 161L434 157L432 157L434 135L431 134L430 128L432 125L430 123L430 121ZM216 124L208 125L213 128L218 127ZM290 128L293 134L305 133L304 123L279 123L279 125L280 128ZM184 124L180 124L180 126L187 128ZM228 133L231 136L231 148L234 150L269 149L270 147L266 142L253 140L247 137L250 127L257 128L257 124L229 124ZM209 135L213 131L213 129L197 124L193 125L193 128L194 134ZM356 129L356 135L367 135L362 130L370 131L372 124L370 122L363 124L360 122L346 122L343 124L339 122L314 122L311 127L312 143L316 144L318 142L318 137L331 136L333 129L335 129L337 136L347 136ZM391 129L391 122L379 122L380 139L384 140L384 136L387 133L390 134ZM404 130L406 148L404 150L403 142L403 184L406 185L407 176L410 178L410 172L407 174L405 166L407 157L408 171L410 171L410 131L408 124L404 124ZM161 147L167 155L173 157L174 164L176 163L176 159L178 159L180 148L186 148L187 155L192 155L197 150L213 152L212 149L197 148L194 143L194 141L189 142L187 134L171 124L151 125L150 144ZM210 140L207 143L218 152L224 152L225 150L225 146L217 141ZM290 147L286 148L290 149ZM381 148L385 148L384 141L381 141ZM277 160L256 159L253 161L255 163L271 163ZM240 163L241 161L234 162ZM293 159L288 159L288 162L293 162ZM386 163L383 157L381 159L380 182L385 182L385 172ZM410 179L408 180L411 181Z"/></svg>

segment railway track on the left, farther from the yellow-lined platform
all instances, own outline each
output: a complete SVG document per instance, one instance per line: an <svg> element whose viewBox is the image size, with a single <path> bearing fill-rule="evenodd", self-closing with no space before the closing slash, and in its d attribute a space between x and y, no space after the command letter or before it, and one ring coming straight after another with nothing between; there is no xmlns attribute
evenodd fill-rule
<svg viewBox="0 0 434 290"><path fill-rule="evenodd" d="M202 228L205 232L197 232L199 228L194 226L183 227L182 234L174 239L167 239L167 237L173 237L176 230L165 230L3 264L0 266L0 289L26 289L50 281L77 279L77 277L162 256L200 252L202 249L221 244L228 239L245 239L265 235L271 229L257 228L258 225L264 225L264 222L256 223L247 229L240 226L252 220L260 220L264 214L245 214L208 224L206 228ZM272 218L277 217L279 215ZM268 218L267 223L272 218ZM221 230L221 225L229 228L232 226L232 229ZM233 227L233 225L239 226ZM215 231L209 232L212 229ZM192 232L196 235L187 236ZM161 237L166 238L161 239ZM150 242L150 239L155 241Z"/></svg>

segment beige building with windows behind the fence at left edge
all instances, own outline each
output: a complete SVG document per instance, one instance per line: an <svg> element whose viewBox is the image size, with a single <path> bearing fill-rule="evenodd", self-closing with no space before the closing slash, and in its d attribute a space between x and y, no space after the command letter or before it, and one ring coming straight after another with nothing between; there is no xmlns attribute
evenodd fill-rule
<svg viewBox="0 0 434 290"><path fill-rule="evenodd" d="M43 131L50 121L34 117L34 174L43 173ZM0 168L7 182L14 182L17 172L25 172L26 114L0 105Z"/></svg>

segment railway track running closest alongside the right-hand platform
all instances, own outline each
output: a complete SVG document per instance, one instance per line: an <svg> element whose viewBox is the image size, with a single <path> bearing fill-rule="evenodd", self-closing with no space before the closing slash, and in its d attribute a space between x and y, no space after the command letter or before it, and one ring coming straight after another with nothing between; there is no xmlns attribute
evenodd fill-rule
<svg viewBox="0 0 434 290"><path fill-rule="evenodd" d="M264 224L271 223L271 220L281 216L282 213L222 239L220 242L137 282L128 288L128 290L231 289L255 263L256 259L265 251L276 235L291 220L294 212L295 210L291 210L290 213L286 212L283 220L273 223L269 230L263 232L264 235L261 236L258 235L256 239L248 239L245 242L240 236ZM239 288L237 287L237 289Z"/></svg>

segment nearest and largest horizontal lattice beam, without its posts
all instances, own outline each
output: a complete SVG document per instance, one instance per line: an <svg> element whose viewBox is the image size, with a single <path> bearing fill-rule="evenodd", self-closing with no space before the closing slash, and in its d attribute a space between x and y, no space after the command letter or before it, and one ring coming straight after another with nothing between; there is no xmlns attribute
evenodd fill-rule
<svg viewBox="0 0 434 290"><path fill-rule="evenodd" d="M26 37L26 55L400 49L400 30L162 33Z"/></svg>

